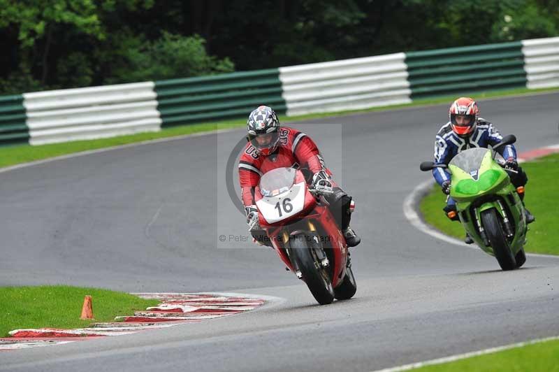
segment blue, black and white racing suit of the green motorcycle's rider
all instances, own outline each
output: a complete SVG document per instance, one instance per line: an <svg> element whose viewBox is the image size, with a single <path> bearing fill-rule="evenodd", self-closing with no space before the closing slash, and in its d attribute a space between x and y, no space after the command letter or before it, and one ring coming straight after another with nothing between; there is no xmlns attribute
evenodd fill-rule
<svg viewBox="0 0 559 372"><path fill-rule="evenodd" d="M469 148L488 148L489 145L494 146L500 143L502 136L499 131L487 120L478 119L476 129L467 138L461 138L451 129L451 123L444 124L437 136L435 137L435 164L449 164L451 159L463 150ZM512 160L516 164L516 149L514 145L506 145L497 150L506 160ZM511 183L514 187L524 186L528 182L526 173L518 166L518 173L509 173ZM446 169L433 168L433 177L437 183L443 187L447 187L450 183L450 173ZM523 199L524 194L519 194ZM447 206L444 207L447 213L456 211L456 202L449 196L447 198ZM451 220L458 220L456 213L452 214Z"/></svg>

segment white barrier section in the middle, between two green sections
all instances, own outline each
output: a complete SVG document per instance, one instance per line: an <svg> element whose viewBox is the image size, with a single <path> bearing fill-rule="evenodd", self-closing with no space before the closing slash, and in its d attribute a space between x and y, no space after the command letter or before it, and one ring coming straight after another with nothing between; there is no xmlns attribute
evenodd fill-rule
<svg viewBox="0 0 559 372"><path fill-rule="evenodd" d="M287 115L409 103L405 53L279 68Z"/></svg>

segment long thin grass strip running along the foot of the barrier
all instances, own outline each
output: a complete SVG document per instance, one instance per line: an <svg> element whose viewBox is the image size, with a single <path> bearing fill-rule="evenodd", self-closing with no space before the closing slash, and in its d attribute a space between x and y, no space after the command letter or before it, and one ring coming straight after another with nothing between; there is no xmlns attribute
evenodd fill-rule
<svg viewBox="0 0 559 372"><path fill-rule="evenodd" d="M550 88L544 90L528 90L526 88L518 88L514 90L497 90L491 92L464 92L463 95L474 95L476 99L479 100L484 98L492 98L492 97L500 97L500 96L516 96L522 94L534 94L538 92L554 92L554 91L559 91L559 88ZM395 105L395 106L382 106L382 107L370 108L367 110L339 111L337 113L319 113L319 114L300 115L300 116L293 116L293 117L280 116L279 119L282 122L296 122L300 120L318 119L320 117L339 117L344 115L371 113L371 112L382 111L382 110L395 110L398 108L406 108L412 106L434 105L438 103L450 104L453 99L456 99L456 95L441 96L441 97L429 98L429 99L417 99L412 103ZM90 140L90 141L73 141L73 142L66 142L66 143L55 143L51 145L39 145L39 146L31 146L31 145L6 146L0 148L0 168L15 165L15 164L33 162L41 159L47 159L50 157L72 154L75 152L97 150L100 148L110 148L112 146L126 145L129 143L136 143L141 141L150 141L157 138L184 136L187 134L195 134L195 133L200 133L205 131L214 131L216 129L228 129L228 128L237 128L237 127L240 128L243 127L245 123L246 123L245 119L226 120L221 122L208 122L208 123L201 123L201 124L182 125L179 127L163 129L162 131L154 132L154 133L132 134L129 136L102 138L102 139Z"/></svg>

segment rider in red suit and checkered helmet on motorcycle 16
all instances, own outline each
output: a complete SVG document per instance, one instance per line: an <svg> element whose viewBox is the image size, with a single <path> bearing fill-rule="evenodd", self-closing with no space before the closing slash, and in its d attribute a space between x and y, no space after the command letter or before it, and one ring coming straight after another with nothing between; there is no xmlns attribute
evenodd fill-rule
<svg viewBox="0 0 559 372"><path fill-rule="evenodd" d="M274 110L259 106L250 113L247 121L248 143L239 161L239 181L242 203L247 214L249 231L257 244L272 245L266 231L259 227L258 209L254 199L255 187L263 174L272 169L293 167L300 169L307 183L317 191L323 191L328 207L348 247L361 243L353 229L349 227L353 202L332 180L332 173L324 164L317 145L312 139L297 129L280 127Z"/></svg>

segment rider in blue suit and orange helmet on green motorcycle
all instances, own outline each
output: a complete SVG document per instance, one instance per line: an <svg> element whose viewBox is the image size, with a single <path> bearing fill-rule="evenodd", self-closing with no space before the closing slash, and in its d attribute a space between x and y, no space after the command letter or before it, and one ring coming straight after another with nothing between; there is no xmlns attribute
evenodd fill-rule
<svg viewBox="0 0 559 372"><path fill-rule="evenodd" d="M477 103L467 97L460 97L454 101L449 109L449 119L435 136L435 164L449 164L451 159L463 150L469 148L488 148L502 140L499 131L487 120L479 117ZM504 168L508 169L511 183L517 188L521 200L524 199L524 185L528 182L526 173L518 166L516 149L514 145L506 145L498 150L506 160ZM444 194L450 194L450 173L446 169L434 168L433 177L440 185ZM456 201L447 196L447 206L444 212L453 221L458 221L456 215ZM454 213L452 213L454 212ZM532 223L535 217L526 209L526 222ZM473 243L472 238L466 234L465 243Z"/></svg>

